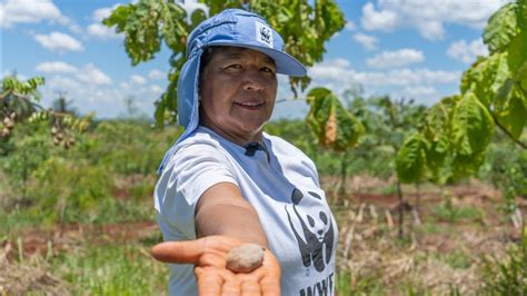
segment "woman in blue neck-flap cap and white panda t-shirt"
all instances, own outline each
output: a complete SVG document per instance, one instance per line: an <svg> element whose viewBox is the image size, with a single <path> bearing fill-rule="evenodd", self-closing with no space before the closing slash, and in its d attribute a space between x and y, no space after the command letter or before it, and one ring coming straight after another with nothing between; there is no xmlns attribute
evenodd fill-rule
<svg viewBox="0 0 527 296"><path fill-rule="evenodd" d="M190 34L178 81L186 131L160 167L155 201L171 263L171 295L330 295L337 227L314 162L262 132L277 73L306 75L258 14L229 9ZM226 268L229 250L265 247L251 273Z"/></svg>

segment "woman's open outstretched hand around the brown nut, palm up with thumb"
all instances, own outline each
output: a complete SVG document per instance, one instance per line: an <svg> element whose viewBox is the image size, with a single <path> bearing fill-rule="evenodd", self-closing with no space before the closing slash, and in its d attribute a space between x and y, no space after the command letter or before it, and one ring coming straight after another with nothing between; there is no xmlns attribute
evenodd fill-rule
<svg viewBox="0 0 527 296"><path fill-rule="evenodd" d="M152 256L163 263L196 265L199 295L280 295L280 265L268 249L261 266L250 273L227 269L227 254L241 245L241 240L228 236L207 236L158 244Z"/></svg>

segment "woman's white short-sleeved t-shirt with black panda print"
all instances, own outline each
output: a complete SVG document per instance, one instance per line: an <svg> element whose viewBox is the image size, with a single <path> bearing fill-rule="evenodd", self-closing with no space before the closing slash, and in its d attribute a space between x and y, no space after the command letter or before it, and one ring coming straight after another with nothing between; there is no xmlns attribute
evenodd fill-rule
<svg viewBox="0 0 527 296"><path fill-rule="evenodd" d="M195 209L212 185L228 181L258 213L281 266L282 295L332 295L337 224L315 164L289 142L264 134L266 150L246 148L199 127L176 147L156 186L165 240L196 239ZM192 265L169 264L170 295L197 295Z"/></svg>

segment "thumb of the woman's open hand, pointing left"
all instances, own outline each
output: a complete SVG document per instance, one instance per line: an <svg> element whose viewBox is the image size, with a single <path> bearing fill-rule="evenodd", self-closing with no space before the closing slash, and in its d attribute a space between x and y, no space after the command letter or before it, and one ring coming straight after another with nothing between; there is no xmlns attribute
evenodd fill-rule
<svg viewBox="0 0 527 296"><path fill-rule="evenodd" d="M196 264L203 254L202 239L165 241L152 248L152 257L163 263Z"/></svg>

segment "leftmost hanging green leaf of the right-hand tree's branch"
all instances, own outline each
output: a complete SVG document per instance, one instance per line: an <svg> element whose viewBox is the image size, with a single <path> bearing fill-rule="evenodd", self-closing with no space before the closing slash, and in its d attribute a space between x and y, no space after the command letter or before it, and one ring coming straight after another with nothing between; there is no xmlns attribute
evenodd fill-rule
<svg viewBox="0 0 527 296"><path fill-rule="evenodd" d="M425 138L416 132L410 136L397 152L397 177L402 182L415 182L425 171Z"/></svg>

